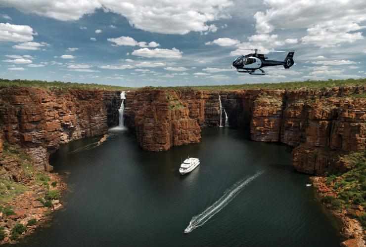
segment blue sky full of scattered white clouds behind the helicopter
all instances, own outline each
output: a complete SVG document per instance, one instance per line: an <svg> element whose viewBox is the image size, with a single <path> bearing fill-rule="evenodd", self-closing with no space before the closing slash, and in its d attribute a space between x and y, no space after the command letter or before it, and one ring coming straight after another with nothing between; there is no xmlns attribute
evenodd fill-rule
<svg viewBox="0 0 366 247"><path fill-rule="evenodd" d="M366 78L365 0L0 0L0 78L121 86ZM258 48L295 65L230 68ZM279 50L285 52L269 52Z"/></svg>

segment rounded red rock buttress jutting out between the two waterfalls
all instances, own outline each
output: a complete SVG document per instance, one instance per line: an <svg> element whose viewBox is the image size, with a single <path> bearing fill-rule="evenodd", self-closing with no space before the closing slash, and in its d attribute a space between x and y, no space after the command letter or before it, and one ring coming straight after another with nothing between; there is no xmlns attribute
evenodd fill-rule
<svg viewBox="0 0 366 247"><path fill-rule="evenodd" d="M173 90L137 90L126 95L126 123L136 131L137 142L147 151L199 142L200 106L180 99ZM192 109L191 112L190 109ZM190 116L197 116L193 119Z"/></svg>

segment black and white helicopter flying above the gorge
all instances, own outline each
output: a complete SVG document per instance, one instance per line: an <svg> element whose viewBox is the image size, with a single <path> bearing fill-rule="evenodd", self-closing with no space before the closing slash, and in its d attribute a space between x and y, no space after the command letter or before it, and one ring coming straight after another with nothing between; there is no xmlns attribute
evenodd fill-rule
<svg viewBox="0 0 366 247"><path fill-rule="evenodd" d="M292 59L295 53L294 50L288 52L284 61L267 60L268 57L265 57L263 54L257 53L258 49L248 49L248 50L254 50L255 53L250 53L245 56L242 55L236 58L232 62L232 66L234 66L234 68L239 73L248 73L250 75L266 75L266 72L261 68L268 66L283 65L285 69L289 69L292 65L294 65L294 60ZM275 51L275 52L284 52L284 51Z"/></svg>

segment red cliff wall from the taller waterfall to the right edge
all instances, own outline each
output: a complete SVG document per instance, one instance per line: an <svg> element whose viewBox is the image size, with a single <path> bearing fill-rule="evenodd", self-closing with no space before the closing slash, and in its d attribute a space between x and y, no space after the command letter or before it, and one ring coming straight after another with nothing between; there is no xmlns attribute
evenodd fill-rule
<svg viewBox="0 0 366 247"><path fill-rule="evenodd" d="M295 147L291 159L296 170L309 174L344 172L350 167L342 163L341 155L365 149L366 99L352 96L365 91L365 86L228 91L143 88L127 93L125 122L136 131L145 150L161 151L197 142L195 123L201 128L220 124L220 95L230 126L250 128L254 141ZM183 106L178 112L169 109L168 94ZM183 129L190 129L175 138L174 118L188 120ZM192 120L195 122L189 122Z"/></svg>

